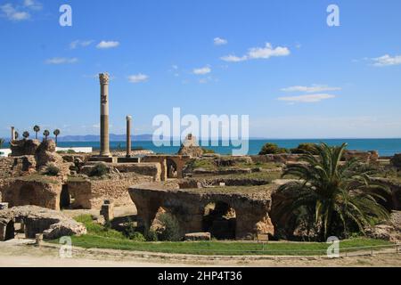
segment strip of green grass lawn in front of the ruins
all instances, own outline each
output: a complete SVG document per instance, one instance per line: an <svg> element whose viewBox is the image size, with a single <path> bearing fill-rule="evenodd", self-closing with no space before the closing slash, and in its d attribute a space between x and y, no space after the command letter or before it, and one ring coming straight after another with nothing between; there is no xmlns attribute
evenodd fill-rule
<svg viewBox="0 0 401 285"><path fill-rule="evenodd" d="M72 237L73 246L81 248L111 248L164 253L195 255L285 255L317 256L325 255L328 244L323 242L270 241L265 245L245 241L178 241L149 242L127 239L121 232L105 229L94 224L91 216L78 216L79 222L86 224L88 234ZM55 241L57 242L57 240ZM389 241L358 238L340 241L340 251L346 248L390 245Z"/></svg>

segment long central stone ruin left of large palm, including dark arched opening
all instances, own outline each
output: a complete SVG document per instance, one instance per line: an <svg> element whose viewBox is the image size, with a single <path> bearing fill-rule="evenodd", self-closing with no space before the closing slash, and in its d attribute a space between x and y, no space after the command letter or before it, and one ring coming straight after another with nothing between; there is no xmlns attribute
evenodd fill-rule
<svg viewBox="0 0 401 285"><path fill-rule="evenodd" d="M274 235L269 217L274 185L246 190L194 186L169 182L130 187L128 191L137 208L138 223L150 227L162 211L176 218L183 236L190 232L212 232L223 239L249 240L258 233Z"/></svg>

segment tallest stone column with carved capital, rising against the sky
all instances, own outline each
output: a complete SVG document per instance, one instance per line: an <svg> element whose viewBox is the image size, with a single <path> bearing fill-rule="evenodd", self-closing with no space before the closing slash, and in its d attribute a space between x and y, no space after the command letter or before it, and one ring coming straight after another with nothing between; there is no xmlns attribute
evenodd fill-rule
<svg viewBox="0 0 401 285"><path fill-rule="evenodd" d="M109 74L99 74L101 85L101 151L102 157L110 157L109 142Z"/></svg>

